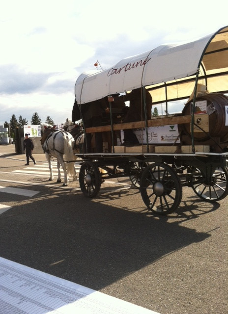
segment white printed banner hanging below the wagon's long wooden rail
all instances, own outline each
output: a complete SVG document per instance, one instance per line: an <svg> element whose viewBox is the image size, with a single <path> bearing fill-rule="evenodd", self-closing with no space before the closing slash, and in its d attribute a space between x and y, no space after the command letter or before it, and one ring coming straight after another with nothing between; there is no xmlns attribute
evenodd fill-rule
<svg viewBox="0 0 228 314"><path fill-rule="evenodd" d="M146 144L146 131L145 128L133 129L139 142ZM160 127L149 127L148 128L148 143L149 144L172 144L180 143L178 132L178 125L168 125ZM121 130L121 140L123 142L124 134Z"/></svg>

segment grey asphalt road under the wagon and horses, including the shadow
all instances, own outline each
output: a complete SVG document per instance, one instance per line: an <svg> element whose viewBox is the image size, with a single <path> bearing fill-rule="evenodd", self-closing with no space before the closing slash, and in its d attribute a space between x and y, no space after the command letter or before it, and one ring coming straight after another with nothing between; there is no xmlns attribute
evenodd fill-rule
<svg viewBox="0 0 228 314"><path fill-rule="evenodd" d="M209 204L184 187L179 208L155 216L128 178L90 200L78 181L49 182L34 157L28 169L0 145L0 205L11 207L0 210L1 257L161 314L228 313L228 198Z"/></svg>

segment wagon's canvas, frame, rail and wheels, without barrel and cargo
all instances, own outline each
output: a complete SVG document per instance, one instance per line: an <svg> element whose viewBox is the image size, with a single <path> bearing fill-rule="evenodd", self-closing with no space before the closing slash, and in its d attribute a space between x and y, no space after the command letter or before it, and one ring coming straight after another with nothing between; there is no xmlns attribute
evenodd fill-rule
<svg viewBox="0 0 228 314"><path fill-rule="evenodd" d="M165 68L162 66L164 62ZM225 198L228 195L227 140L221 145L218 143L220 152L197 152L193 135L191 152L187 154L150 152L148 143L148 128L151 126L188 123L191 134L194 134L194 108L201 83L210 93L228 93L228 26L191 43L159 46L123 59L111 69L82 74L75 84L80 110L86 103L139 87L143 93L145 88L148 89L153 105L165 103L168 108L169 102L187 98L192 98L193 103L190 115L167 115L161 119L125 124L113 124L110 103L111 124L86 128L85 139L87 133L109 131L111 151L77 154L82 158L79 183L83 194L93 198L99 193L104 179L129 176L140 189L146 207L156 214L166 215L178 208L182 186L192 187L206 202ZM142 105L146 112L145 102ZM115 153L114 131L136 128L145 129L146 151Z"/></svg>

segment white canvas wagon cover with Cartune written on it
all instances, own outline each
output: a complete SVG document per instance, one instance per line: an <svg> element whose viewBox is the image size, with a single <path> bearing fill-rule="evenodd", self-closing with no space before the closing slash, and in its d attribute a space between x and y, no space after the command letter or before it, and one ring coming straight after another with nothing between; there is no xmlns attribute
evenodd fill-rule
<svg viewBox="0 0 228 314"><path fill-rule="evenodd" d="M85 72L75 84L78 104L145 86L153 103L189 97L196 83L228 92L228 26L196 41L161 45L122 59L104 71Z"/></svg>

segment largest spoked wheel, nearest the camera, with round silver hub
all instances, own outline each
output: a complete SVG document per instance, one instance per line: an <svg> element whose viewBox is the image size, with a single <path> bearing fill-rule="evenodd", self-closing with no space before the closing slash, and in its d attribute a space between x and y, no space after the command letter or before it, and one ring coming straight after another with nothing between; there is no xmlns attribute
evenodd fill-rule
<svg viewBox="0 0 228 314"><path fill-rule="evenodd" d="M167 215L181 202L182 185L172 168L163 163L150 164L142 173L142 200L156 214Z"/></svg>

